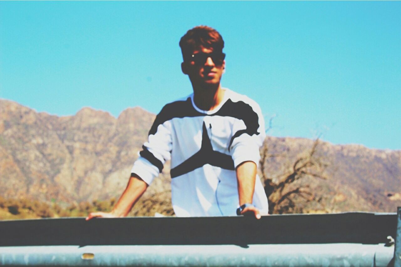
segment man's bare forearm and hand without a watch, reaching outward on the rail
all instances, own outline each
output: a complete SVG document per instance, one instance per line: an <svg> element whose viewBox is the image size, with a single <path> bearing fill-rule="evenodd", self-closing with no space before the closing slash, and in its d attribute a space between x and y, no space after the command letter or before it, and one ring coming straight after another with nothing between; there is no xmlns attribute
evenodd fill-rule
<svg viewBox="0 0 401 267"><path fill-rule="evenodd" d="M127 188L120 196L111 212L91 212L86 220L91 218L115 218L125 217L130 212L134 204L138 201L140 196L146 191L148 184L144 182L138 175L133 174L128 181Z"/></svg>

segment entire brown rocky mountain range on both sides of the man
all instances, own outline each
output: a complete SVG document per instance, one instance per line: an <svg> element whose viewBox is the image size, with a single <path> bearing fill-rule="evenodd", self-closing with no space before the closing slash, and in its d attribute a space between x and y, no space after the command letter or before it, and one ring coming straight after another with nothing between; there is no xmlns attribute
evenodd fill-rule
<svg viewBox="0 0 401 267"><path fill-rule="evenodd" d="M61 205L118 197L154 118L140 107L118 118L89 107L58 117L0 99L0 196ZM269 152L281 155L266 162L267 174L285 172L313 142L267 137ZM310 209L395 212L401 206L401 151L320 142L319 153L329 162L328 179L303 180L324 196L323 206ZM166 164L143 198L169 196L169 171Z"/></svg>

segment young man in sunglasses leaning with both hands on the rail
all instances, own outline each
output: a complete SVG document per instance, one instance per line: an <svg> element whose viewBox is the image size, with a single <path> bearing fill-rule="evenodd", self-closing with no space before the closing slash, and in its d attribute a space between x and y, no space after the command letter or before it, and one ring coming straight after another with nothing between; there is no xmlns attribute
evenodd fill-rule
<svg viewBox="0 0 401 267"><path fill-rule="evenodd" d="M92 212L87 220L126 216L170 159L176 216L267 215L267 197L257 177L265 138L259 105L221 87L225 54L219 32L192 28L180 47L181 69L193 93L163 107L113 210Z"/></svg>

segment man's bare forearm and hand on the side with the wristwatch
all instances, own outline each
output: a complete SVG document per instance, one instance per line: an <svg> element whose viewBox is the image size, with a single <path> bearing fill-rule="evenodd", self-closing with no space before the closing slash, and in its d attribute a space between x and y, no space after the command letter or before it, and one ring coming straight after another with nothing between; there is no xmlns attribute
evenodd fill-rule
<svg viewBox="0 0 401 267"><path fill-rule="evenodd" d="M237 183L239 205L245 203L252 204L253 191L255 190L257 166L253 161L245 161L237 166ZM260 219L259 210L255 206L244 208L241 214L254 214L257 219Z"/></svg>

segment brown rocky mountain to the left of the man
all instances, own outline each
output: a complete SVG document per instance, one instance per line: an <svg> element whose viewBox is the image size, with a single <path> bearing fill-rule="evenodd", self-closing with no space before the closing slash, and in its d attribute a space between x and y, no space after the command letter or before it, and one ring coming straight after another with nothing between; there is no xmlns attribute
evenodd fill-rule
<svg viewBox="0 0 401 267"><path fill-rule="evenodd" d="M57 117L0 100L0 195L69 203L121 194L154 117L140 107L117 119L89 107Z"/></svg>

